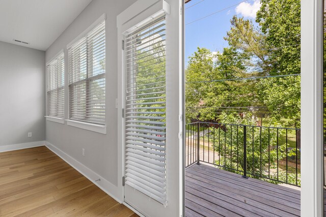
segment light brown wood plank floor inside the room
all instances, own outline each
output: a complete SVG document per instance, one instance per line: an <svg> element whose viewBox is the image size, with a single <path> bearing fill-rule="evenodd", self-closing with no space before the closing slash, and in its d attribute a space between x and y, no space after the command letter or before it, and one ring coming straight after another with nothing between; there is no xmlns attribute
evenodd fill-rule
<svg viewBox="0 0 326 217"><path fill-rule="evenodd" d="M45 146L0 153L0 216L138 216Z"/></svg>

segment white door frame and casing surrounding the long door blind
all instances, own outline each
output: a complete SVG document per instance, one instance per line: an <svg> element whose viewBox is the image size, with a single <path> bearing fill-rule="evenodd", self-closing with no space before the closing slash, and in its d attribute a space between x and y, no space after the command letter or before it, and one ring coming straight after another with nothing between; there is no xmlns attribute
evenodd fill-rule
<svg viewBox="0 0 326 217"><path fill-rule="evenodd" d="M121 186L121 198L125 203L145 216L181 216L182 198L182 138L179 132L183 122L179 121L182 112L182 14L181 1L139 0L117 17L118 28L118 184ZM166 15L166 192L167 204L163 205L146 194L131 188L122 187L125 174L125 129L122 109L125 108L125 59L122 49L124 33L139 25L154 14L164 11Z"/></svg>

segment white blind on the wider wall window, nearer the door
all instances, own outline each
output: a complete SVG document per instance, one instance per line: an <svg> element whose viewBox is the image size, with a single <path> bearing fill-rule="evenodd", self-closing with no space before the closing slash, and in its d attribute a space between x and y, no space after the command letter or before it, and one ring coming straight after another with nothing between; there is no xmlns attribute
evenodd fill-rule
<svg viewBox="0 0 326 217"><path fill-rule="evenodd" d="M69 118L105 124L105 21L68 48Z"/></svg>

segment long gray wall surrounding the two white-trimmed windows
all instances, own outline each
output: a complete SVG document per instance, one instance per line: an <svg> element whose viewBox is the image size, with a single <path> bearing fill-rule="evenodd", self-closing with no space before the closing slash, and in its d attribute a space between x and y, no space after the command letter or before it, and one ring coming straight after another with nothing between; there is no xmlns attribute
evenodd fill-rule
<svg viewBox="0 0 326 217"><path fill-rule="evenodd" d="M106 126L107 134L91 132L57 122L46 121L46 141L69 154L112 184L117 185L117 15L132 1L94 0L70 24L65 32L46 51L49 61L61 49L65 51L66 81L68 74L66 46L80 33L106 14ZM68 83L65 86L65 118L68 118ZM85 148L85 157L82 156Z"/></svg>

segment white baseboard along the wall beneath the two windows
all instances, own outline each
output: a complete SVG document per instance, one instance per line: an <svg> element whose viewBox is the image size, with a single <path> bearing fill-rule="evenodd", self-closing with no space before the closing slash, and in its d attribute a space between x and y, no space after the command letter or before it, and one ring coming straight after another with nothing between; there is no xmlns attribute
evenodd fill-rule
<svg viewBox="0 0 326 217"><path fill-rule="evenodd" d="M70 166L72 166L74 169L76 169L78 172L82 173L86 178L88 178L90 181L92 181L95 185L97 185L98 188L100 188L102 191L104 191L106 194L111 196L113 199L118 201L119 203L123 203L123 199L119 198L119 190L118 187L114 184L112 184L110 181L107 181L102 176L95 173L93 170L89 169L79 161L75 160L71 156L69 156L67 153L63 152L56 146L52 145L51 143L45 141L45 146L50 149L52 152L57 154L62 160L67 162ZM97 179L100 179L100 181L95 181Z"/></svg>

